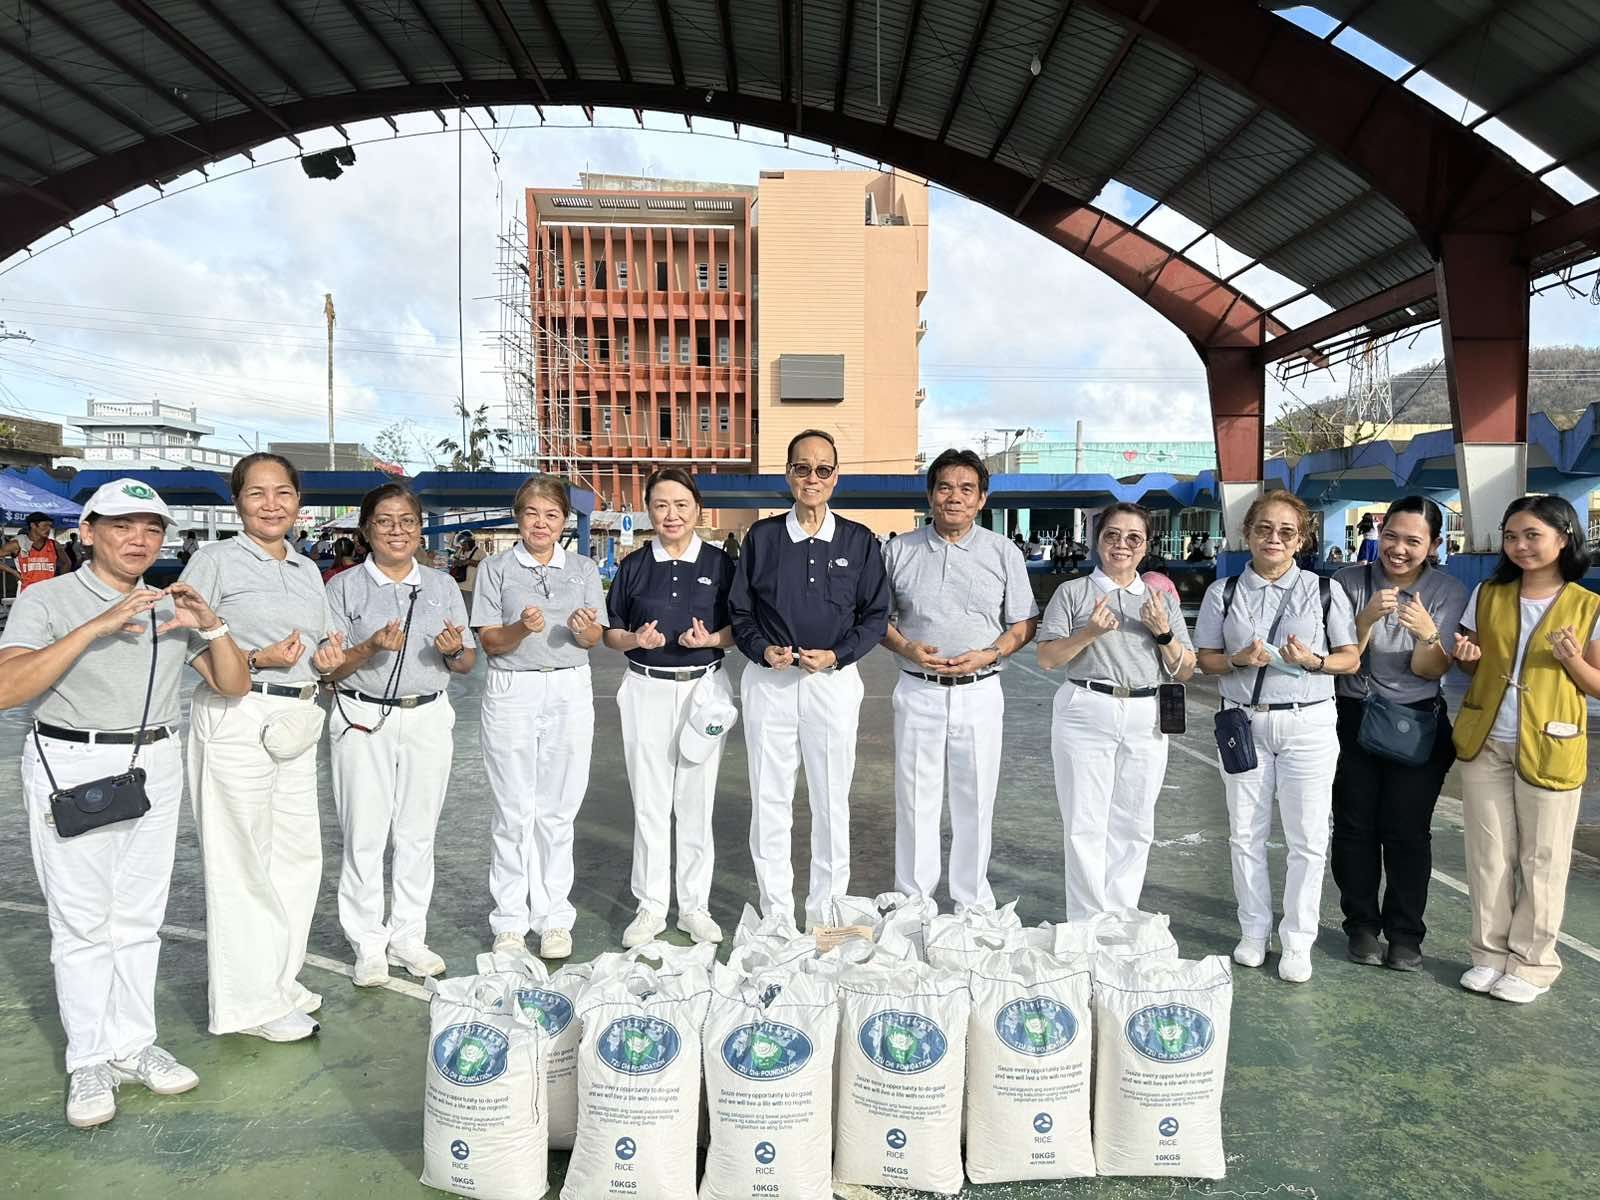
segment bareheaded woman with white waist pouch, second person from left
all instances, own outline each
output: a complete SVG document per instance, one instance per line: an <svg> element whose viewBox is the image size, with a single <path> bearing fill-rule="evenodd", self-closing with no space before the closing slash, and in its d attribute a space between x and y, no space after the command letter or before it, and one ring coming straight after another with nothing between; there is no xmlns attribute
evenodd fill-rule
<svg viewBox="0 0 1600 1200"><path fill-rule="evenodd" d="M315 560L285 541L299 512L294 466L245 454L232 488L243 534L202 546L181 576L234 627L250 667L243 696L203 686L189 706L210 1027L298 1042L317 1032L322 1005L296 979L322 883L317 677L344 662L344 635Z"/></svg>

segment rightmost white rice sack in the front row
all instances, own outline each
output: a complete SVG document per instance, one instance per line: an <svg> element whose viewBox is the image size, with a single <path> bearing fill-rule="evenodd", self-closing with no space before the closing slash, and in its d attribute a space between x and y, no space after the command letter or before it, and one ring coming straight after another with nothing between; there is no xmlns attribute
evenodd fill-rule
<svg viewBox="0 0 1600 1200"><path fill-rule="evenodd" d="M1234 978L1226 958L1094 965L1094 1165L1221 1179Z"/></svg>

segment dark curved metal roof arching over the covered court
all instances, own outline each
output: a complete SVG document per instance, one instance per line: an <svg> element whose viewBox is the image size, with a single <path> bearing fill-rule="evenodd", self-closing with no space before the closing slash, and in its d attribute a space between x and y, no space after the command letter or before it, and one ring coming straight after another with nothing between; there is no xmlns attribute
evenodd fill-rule
<svg viewBox="0 0 1600 1200"><path fill-rule="evenodd" d="M1536 270L1594 253L1594 222L1542 179L1270 6L18 0L0 18L0 258L269 141L512 102L704 114L896 163L1082 254L1202 349L1282 338L1269 354L1283 357L1358 325L1426 320L1445 229L1542 224ZM1517 21L1490 0L1323 8L1600 182L1600 147L1582 144L1600 141L1592 3L1526 0ZM1546 32L1530 38L1530 24ZM1187 254L1200 238L1168 246L1115 221L1093 206L1109 182L1250 262L1218 277ZM1253 302L1240 285L1256 264L1301 291ZM1307 296L1346 312L1290 336L1275 312Z"/></svg>

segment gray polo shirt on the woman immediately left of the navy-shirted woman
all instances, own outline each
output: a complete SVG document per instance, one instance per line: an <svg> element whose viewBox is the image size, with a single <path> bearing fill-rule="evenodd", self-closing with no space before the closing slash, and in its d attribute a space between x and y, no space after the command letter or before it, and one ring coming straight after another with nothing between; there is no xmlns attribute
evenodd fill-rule
<svg viewBox="0 0 1600 1200"><path fill-rule="evenodd" d="M550 562L539 562L517 542L509 550L485 558L472 589L472 627L514 626L528 605L544 613L544 632L528 634L509 654L491 654L491 670L539 670L541 667L581 667L589 651L578 645L566 618L579 608L595 610L603 626L605 589L592 558L568 554L560 544Z"/></svg>

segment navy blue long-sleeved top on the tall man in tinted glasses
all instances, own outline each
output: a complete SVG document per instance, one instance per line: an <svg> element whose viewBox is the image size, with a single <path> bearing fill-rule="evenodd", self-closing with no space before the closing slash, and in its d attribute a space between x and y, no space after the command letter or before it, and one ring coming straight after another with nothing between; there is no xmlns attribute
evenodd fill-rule
<svg viewBox="0 0 1600 1200"><path fill-rule="evenodd" d="M848 667L883 637L890 581L877 534L835 515L806 536L790 509L750 526L728 597L733 637L750 662L768 646L832 650Z"/></svg>

